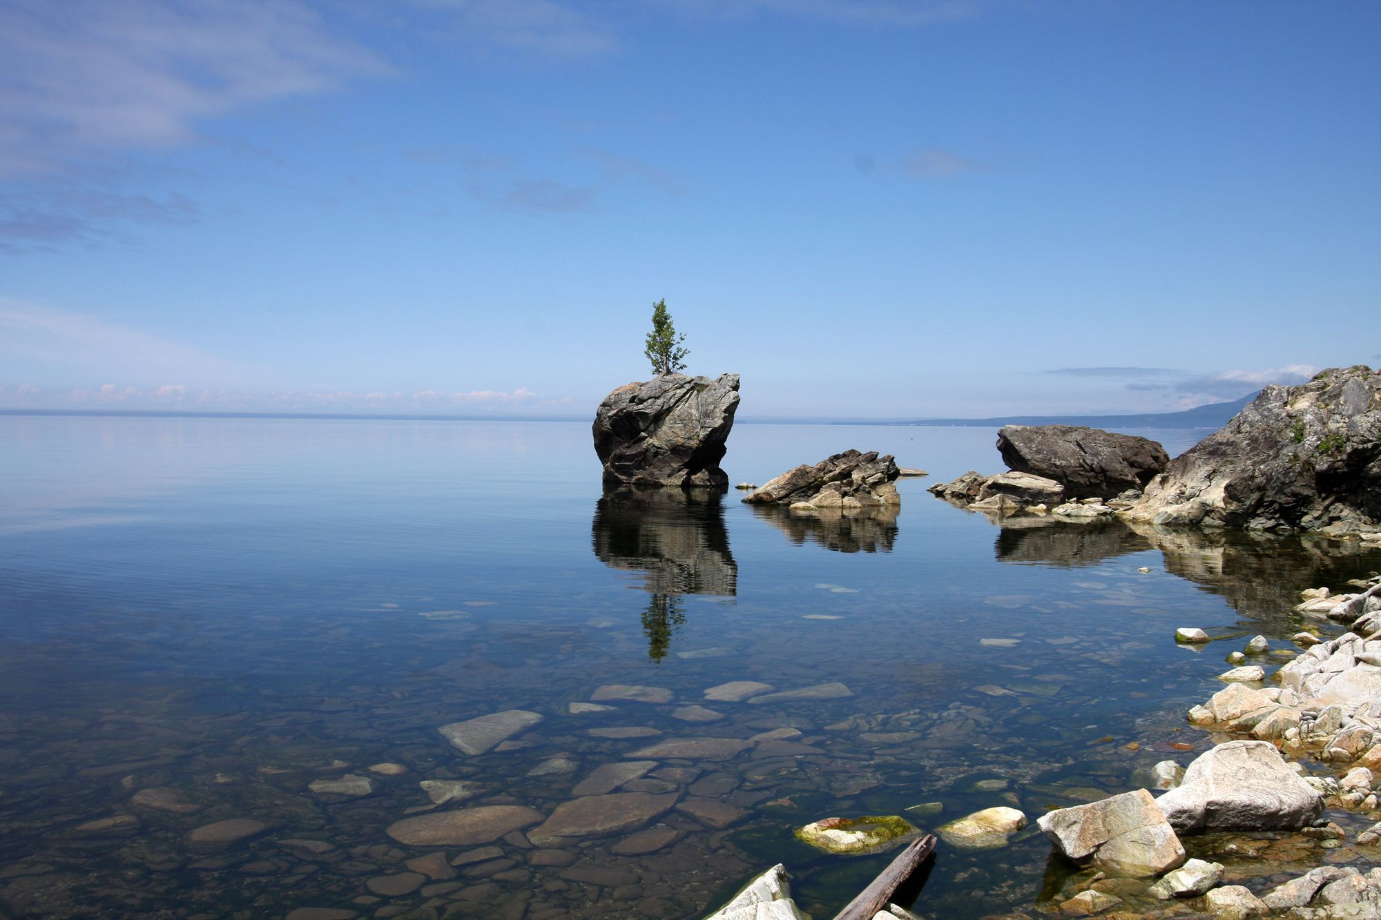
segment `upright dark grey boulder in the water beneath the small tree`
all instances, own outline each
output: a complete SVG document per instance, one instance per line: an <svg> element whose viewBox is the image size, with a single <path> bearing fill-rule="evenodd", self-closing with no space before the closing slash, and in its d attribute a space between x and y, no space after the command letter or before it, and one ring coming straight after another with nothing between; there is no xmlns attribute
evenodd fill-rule
<svg viewBox="0 0 1381 920"><path fill-rule="evenodd" d="M663 374L619 387L592 425L605 485L726 489L720 468L739 408L739 374Z"/></svg>

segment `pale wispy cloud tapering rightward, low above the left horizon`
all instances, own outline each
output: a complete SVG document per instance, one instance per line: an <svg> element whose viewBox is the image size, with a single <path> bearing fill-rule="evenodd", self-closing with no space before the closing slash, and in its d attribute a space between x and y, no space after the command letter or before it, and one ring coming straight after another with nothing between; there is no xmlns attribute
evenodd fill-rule
<svg viewBox="0 0 1381 920"><path fill-rule="evenodd" d="M3 297L0 366L43 367L48 376L139 381L196 378L226 384L251 373L163 336Z"/></svg>

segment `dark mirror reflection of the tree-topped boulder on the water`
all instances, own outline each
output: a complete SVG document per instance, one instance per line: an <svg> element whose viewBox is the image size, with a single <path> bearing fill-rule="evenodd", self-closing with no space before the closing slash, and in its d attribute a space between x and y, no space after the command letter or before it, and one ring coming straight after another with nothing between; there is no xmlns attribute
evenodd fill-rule
<svg viewBox="0 0 1381 920"><path fill-rule="evenodd" d="M737 591L720 493L689 489L613 489L595 503L591 540L605 565L644 573L652 595L642 612L648 658L660 662L685 623L682 594Z"/></svg>

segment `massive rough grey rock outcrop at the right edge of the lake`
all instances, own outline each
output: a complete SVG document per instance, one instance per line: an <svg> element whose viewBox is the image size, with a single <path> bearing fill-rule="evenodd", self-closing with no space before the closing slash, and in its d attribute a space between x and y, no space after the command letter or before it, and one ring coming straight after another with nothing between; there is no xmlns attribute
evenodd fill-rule
<svg viewBox="0 0 1381 920"><path fill-rule="evenodd" d="M1146 485L1135 521L1370 532L1381 524L1381 373L1266 387Z"/></svg>

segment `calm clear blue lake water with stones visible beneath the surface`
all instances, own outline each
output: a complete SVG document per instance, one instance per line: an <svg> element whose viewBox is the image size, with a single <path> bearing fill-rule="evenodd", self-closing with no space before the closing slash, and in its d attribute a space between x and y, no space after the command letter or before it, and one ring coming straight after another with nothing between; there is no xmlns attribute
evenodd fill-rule
<svg viewBox="0 0 1381 920"><path fill-rule="evenodd" d="M1175 454L1203 432L1143 434ZM0 417L0 916L695 917L784 862L829 917L889 855L826 856L794 827L923 803L943 811L913 812L921 827L998 804L1034 818L1135 787L1193 757L1172 745L1210 746L1184 711L1230 649L1178 648L1177 626L1283 638L1295 591L1381 568L1326 542L996 526L924 492L1000 470L982 428L735 428L732 482L845 448L932 472L900 485L895 519L833 522L735 492L603 496L588 439L558 423ZM706 700L726 681L851 695ZM670 702L569 713L609 684ZM693 705L713 721L685 721ZM474 757L436 731L508 709L543 721ZM606 731L621 728L644 731ZM624 790L678 805L641 847L630 829L534 859L516 834L385 834L434 808L421 780L550 815L649 745L779 728L800 735L653 757ZM308 789L344 774L376 790ZM131 801L149 789L153 805ZM224 819L264 829L189 838ZM467 855L481 845L500 852ZM389 879L436 851L461 858L429 863L453 879ZM1003 850L942 845L914 909L1030 906L1068 874L1034 827Z"/></svg>

